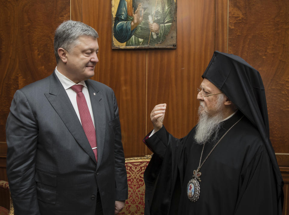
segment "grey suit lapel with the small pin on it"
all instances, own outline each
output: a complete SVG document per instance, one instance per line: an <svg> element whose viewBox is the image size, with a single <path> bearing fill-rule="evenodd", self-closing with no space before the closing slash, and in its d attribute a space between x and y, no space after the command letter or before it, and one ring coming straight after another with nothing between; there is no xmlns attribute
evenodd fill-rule
<svg viewBox="0 0 289 215"><path fill-rule="evenodd" d="M96 142L97 142L96 169L97 169L101 163L104 148L105 130L106 130L105 106L104 100L102 99L103 96L101 92L95 87L95 85L91 84L90 80L85 81L85 83L90 96L96 131Z"/></svg>

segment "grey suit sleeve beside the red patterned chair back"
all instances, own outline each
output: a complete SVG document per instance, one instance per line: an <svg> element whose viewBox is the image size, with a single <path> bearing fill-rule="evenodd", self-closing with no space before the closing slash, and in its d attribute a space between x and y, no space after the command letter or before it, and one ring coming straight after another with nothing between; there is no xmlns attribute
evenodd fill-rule
<svg viewBox="0 0 289 215"><path fill-rule="evenodd" d="M113 92L112 92L113 93ZM115 185L116 185L116 199L123 201L128 196L127 186L127 171L124 165L124 149L121 142L121 125L118 116L118 104L113 93L113 106L117 125L115 130Z"/></svg>

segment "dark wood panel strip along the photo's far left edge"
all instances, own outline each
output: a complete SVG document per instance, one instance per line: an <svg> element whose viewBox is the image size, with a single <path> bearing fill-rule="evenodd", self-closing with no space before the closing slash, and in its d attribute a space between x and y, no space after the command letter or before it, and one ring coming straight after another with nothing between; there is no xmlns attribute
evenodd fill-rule
<svg viewBox="0 0 289 215"><path fill-rule="evenodd" d="M16 51L17 1L1 0L0 13L0 141L5 142L5 125L14 92L18 89Z"/></svg>

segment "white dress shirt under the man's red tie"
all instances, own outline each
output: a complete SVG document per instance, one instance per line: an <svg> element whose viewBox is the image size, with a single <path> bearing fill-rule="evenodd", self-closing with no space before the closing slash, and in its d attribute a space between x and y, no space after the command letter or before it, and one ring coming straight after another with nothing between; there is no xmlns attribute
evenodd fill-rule
<svg viewBox="0 0 289 215"><path fill-rule="evenodd" d="M63 74L61 74L58 70L57 70L57 67L55 68L55 74L56 76L58 77L60 83L62 84L62 86L64 87L71 103L72 103L72 106L77 114L77 117L81 123L81 120L80 120L80 115L79 115L79 111L78 111L78 107L77 107L77 102L76 102L76 92L74 90L72 90L70 87L75 85L75 83L73 81L71 81L70 79L68 79L66 76L64 76ZM90 102L90 97L89 97L89 93L88 93L88 89L86 87L86 84L84 81L80 81L78 84L81 84L83 85L84 87L82 88L82 93L84 94L84 97L86 99L86 103L87 103L87 106L88 106L88 109L89 109L89 112L90 112L90 115L91 115L91 119L92 119L92 122L93 122L93 125L94 125L94 118L93 118L93 112L92 112L92 107L91 107L91 102ZM95 128L95 125L94 125L94 128Z"/></svg>

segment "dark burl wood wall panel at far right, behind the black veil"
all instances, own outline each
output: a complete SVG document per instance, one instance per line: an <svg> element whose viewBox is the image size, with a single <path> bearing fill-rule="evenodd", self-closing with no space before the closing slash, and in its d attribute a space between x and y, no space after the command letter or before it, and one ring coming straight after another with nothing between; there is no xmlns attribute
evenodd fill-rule
<svg viewBox="0 0 289 215"><path fill-rule="evenodd" d="M228 50L262 77L275 152L289 153L289 4L283 0L229 1Z"/></svg>

